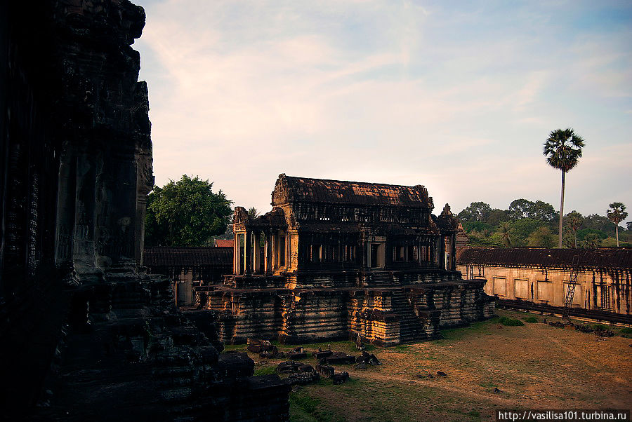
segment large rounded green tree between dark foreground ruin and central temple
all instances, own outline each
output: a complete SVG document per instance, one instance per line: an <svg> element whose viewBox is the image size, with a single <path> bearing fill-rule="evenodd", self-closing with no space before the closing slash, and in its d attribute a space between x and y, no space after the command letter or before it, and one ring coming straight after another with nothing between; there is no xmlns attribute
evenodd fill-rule
<svg viewBox="0 0 632 422"><path fill-rule="evenodd" d="M154 186L147 198L145 244L147 246L202 246L211 236L226 230L232 214L222 191L213 183L183 175L178 182Z"/></svg>

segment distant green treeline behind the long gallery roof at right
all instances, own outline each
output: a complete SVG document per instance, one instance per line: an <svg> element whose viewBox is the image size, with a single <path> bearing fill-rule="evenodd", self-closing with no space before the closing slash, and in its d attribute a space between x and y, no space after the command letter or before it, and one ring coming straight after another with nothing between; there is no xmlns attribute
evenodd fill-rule
<svg viewBox="0 0 632 422"><path fill-rule="evenodd" d="M555 247L560 213L541 200L516 199L508 210L473 202L459 212L470 246ZM619 244L632 246L632 224L619 226ZM565 247L615 247L614 223L603 215L584 217L577 211L563 219L562 244Z"/></svg>

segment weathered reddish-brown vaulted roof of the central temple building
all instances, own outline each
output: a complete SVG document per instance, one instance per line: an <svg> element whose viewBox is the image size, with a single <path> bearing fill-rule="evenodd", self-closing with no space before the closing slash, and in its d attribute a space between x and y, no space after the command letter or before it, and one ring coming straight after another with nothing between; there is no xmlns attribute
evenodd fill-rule
<svg viewBox="0 0 632 422"><path fill-rule="evenodd" d="M276 202L275 202L276 200ZM432 207L424 186L400 186L368 182L346 182L279 175L272 203L301 201L349 205L400 205Z"/></svg>

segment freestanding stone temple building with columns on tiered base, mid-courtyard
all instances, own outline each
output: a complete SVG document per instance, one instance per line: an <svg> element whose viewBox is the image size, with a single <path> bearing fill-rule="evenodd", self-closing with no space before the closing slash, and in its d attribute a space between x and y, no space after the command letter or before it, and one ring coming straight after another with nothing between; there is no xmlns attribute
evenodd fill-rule
<svg viewBox="0 0 632 422"><path fill-rule="evenodd" d="M286 343L358 335L390 346L489 318L485 280L456 271L458 222L424 186L279 175L272 210L235 208L233 274L200 287L219 335Z"/></svg>

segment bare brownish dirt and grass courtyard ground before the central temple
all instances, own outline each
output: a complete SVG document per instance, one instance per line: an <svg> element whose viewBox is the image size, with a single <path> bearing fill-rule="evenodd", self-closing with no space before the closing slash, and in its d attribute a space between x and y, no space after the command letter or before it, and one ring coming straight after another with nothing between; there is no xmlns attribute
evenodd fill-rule
<svg viewBox="0 0 632 422"><path fill-rule="evenodd" d="M499 311L524 319L527 313ZM600 338L574 329L498 320L443 332L445 338L371 348L383 365L347 371L350 381L322 380L291 394L293 421L490 421L496 409L630 409L632 339ZM555 318L546 317L547 320ZM615 330L616 331L616 330ZM307 350L327 343L305 345ZM233 350L244 346L230 346ZM279 347L288 350L290 347ZM350 342L332 350L355 355ZM258 372L282 360L260 360ZM312 357L305 363L315 365ZM437 371L447 376L437 376ZM433 378L426 375L432 374ZM494 389L500 392L494 393Z"/></svg>

